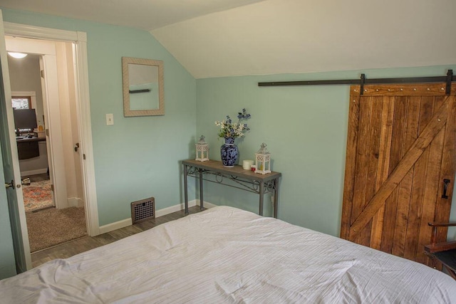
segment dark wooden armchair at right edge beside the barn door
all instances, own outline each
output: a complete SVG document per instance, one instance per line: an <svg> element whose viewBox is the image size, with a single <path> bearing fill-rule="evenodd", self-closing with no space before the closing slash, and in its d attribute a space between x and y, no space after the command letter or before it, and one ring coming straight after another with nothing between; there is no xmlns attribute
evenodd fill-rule
<svg viewBox="0 0 456 304"><path fill-rule="evenodd" d="M435 243L437 228L456 226L456 223L429 223L429 226L432 226L432 235L430 245L425 246L425 253L442 263L450 276L456 280L456 241Z"/></svg>

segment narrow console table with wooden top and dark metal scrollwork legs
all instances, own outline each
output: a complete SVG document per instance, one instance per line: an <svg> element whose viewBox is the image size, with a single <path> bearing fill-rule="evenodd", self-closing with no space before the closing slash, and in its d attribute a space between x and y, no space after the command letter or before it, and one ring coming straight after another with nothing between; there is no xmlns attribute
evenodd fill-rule
<svg viewBox="0 0 456 304"><path fill-rule="evenodd" d="M268 174L258 174L250 170L245 170L242 166L232 168L223 167L222 162L208 160L199 162L195 159L183 160L184 166L184 194L185 194L185 214L188 214L188 189L187 177L199 179L199 206L203 206L203 187L202 181L224 184L229 187L246 190L259 194L259 215L263 215L264 194L274 194L274 217L277 218L277 206L279 205L279 177L281 173L271 172ZM206 177L212 175L214 179Z"/></svg>

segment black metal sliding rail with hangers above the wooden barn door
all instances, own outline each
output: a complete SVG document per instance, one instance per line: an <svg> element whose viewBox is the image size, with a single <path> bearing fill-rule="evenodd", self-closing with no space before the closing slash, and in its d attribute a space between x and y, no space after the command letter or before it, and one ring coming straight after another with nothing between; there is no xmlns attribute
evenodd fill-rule
<svg viewBox="0 0 456 304"><path fill-rule="evenodd" d="M274 81L269 83L258 83L259 87L270 87L276 85L360 85L361 95L363 95L364 85L375 85L385 83L446 83L445 93L450 95L451 83L456 82L453 70L448 70L446 76L430 77L405 77L405 78L375 78L367 79L365 74L361 74L360 79L340 79L340 80L303 80L303 81Z"/></svg>

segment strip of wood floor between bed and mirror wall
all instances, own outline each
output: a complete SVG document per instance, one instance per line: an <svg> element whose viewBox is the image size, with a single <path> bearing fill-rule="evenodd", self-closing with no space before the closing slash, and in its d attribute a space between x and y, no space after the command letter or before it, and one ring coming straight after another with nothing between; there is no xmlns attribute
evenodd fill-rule
<svg viewBox="0 0 456 304"><path fill-rule="evenodd" d="M190 214L197 212L200 212L199 206L193 206L189 208ZM183 210L176 211L172 214L160 216L156 219L151 219L148 221L142 221L141 223L110 231L106 234L100 234L99 236L94 237L84 236L81 239L76 239L58 246L53 246L51 248L43 249L41 251L36 251L31 254L32 267L34 268L36 266L41 265L42 263L46 263L47 261L51 261L55 258L69 258L78 253L88 251L90 249L100 247L108 243L112 243L113 241L118 241L127 236L138 234L138 232L151 229L155 226L166 223L167 221L180 219L184 216L185 213Z"/></svg>

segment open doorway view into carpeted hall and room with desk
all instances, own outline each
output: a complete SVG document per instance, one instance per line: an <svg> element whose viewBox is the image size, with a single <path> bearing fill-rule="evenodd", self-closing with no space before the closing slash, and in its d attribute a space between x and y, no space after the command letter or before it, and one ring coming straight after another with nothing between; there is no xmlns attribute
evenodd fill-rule
<svg viewBox="0 0 456 304"><path fill-rule="evenodd" d="M73 143L79 142L73 45L11 36L6 36L5 41L6 51L22 51L26 55L8 56L11 95L34 95L31 107L14 109L16 127L21 127L16 142L28 238L34 252L87 235L81 155L73 150ZM28 111L36 113L36 120L33 124L24 122L24 127L30 128L22 129L19 118ZM35 130L31 130L33 127ZM47 135L39 136L38 130L47 130ZM56 229L58 224L60 229Z"/></svg>

